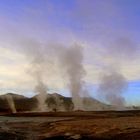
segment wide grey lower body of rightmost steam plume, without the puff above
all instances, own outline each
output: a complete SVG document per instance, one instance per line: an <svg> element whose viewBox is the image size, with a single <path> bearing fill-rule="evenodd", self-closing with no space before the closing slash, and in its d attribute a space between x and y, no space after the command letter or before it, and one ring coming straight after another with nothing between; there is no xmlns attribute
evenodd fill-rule
<svg viewBox="0 0 140 140"><path fill-rule="evenodd" d="M114 105L117 109L122 109L125 103L122 93L126 87L127 82L122 74L117 71L109 71L104 73L101 78L99 93L111 105Z"/></svg>

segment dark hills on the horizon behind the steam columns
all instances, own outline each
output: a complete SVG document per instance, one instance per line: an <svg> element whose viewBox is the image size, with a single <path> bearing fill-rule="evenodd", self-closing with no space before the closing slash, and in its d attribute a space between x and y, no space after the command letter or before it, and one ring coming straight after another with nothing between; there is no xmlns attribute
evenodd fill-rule
<svg viewBox="0 0 140 140"><path fill-rule="evenodd" d="M17 111L36 111L38 100L35 95L32 98L27 98L22 95L7 93L0 95L0 111L10 111L6 96L11 96ZM110 110L111 106L101 103L100 101L93 98L83 98L84 110ZM46 95L46 111L72 111L74 105L72 98L64 97L58 93Z"/></svg>

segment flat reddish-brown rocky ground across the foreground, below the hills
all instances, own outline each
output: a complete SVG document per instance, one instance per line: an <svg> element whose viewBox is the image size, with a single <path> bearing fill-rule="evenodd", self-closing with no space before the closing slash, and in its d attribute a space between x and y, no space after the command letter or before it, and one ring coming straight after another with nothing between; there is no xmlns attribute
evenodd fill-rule
<svg viewBox="0 0 140 140"><path fill-rule="evenodd" d="M0 140L140 140L140 111L3 115Z"/></svg>

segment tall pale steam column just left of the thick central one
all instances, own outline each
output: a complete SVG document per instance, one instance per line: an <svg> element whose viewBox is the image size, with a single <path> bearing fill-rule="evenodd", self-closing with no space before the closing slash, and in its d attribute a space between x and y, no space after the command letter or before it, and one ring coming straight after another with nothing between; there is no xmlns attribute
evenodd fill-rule
<svg viewBox="0 0 140 140"><path fill-rule="evenodd" d="M38 93L38 108L39 111L46 111L46 98L47 98L47 86L43 81L45 76L44 72L46 70L46 59L43 46L35 41L29 40L24 47L26 56L30 60L28 74L36 82L34 88L35 92Z"/></svg>

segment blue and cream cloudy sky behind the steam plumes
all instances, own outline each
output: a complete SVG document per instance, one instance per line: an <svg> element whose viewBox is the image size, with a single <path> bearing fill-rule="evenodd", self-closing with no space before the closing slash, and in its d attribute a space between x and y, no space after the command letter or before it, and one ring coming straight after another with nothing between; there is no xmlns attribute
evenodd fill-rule
<svg viewBox="0 0 140 140"><path fill-rule="evenodd" d="M100 73L113 65L127 80L123 93L127 104L140 105L139 7L138 0L1 0L1 94L34 94L26 42L32 41L37 53L41 49L37 42L79 43L84 48L84 80L90 95L99 98ZM46 85L50 92L69 96L59 73L58 67L48 63Z"/></svg>

